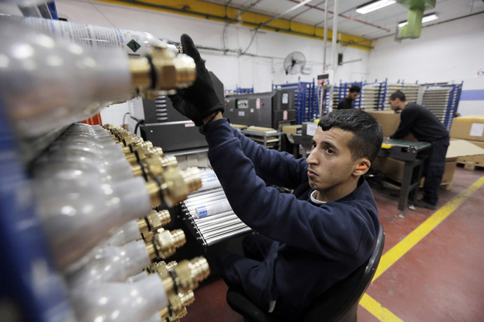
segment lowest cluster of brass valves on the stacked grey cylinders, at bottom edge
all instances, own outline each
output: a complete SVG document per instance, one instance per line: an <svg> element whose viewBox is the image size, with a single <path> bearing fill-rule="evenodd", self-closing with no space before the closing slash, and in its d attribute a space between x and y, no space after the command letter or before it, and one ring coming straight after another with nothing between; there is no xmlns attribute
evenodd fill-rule
<svg viewBox="0 0 484 322"><path fill-rule="evenodd" d="M181 262L156 262L147 268L150 274L159 274L168 297L169 307L160 311L163 321L179 321L187 314L187 305L194 300L193 290L210 274L203 257Z"/></svg>

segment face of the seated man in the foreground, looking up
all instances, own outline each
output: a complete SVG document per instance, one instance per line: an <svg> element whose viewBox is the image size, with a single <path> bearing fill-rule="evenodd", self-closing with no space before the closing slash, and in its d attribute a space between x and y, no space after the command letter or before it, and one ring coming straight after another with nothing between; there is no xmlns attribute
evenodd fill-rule
<svg viewBox="0 0 484 322"><path fill-rule="evenodd" d="M358 162L351 158L348 142L353 133L332 127L323 131L318 126L311 154L307 158L309 186L314 190L337 189L351 179Z"/></svg>

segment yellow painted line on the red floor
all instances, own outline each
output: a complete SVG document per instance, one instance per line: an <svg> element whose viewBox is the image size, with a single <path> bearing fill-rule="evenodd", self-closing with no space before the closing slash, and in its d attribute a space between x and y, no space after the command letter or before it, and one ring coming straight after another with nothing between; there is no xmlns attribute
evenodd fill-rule
<svg viewBox="0 0 484 322"><path fill-rule="evenodd" d="M441 209L438 209L432 216L430 216L426 221L424 221L419 227L415 228L410 234L402 239L398 244L392 247L389 251L382 255L380 259L377 272L372 279L375 281L380 275L382 275L386 269L389 269L391 265L399 260L405 253L410 251L410 249L415 246L419 241L421 241L429 232L436 228L439 223L441 223L445 218L452 214L457 207L459 207L469 196L471 196L478 188L483 186L484 176L481 176L476 182L474 182L469 188L464 190L456 197L452 198L447 204L445 204ZM375 299L370 297L370 295L365 294L361 298L360 304L371 314L373 314L379 321L384 322L394 322L402 321L395 314L391 313L386 307L382 307Z"/></svg>

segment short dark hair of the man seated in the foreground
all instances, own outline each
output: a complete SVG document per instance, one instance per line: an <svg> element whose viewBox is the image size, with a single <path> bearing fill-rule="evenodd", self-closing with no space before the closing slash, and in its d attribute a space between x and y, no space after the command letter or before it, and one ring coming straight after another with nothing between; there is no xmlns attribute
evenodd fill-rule
<svg viewBox="0 0 484 322"><path fill-rule="evenodd" d="M323 131L338 127L353 133L353 138L348 142L353 160L368 158L372 162L382 148L382 127L375 118L360 109L332 111L321 118L318 126Z"/></svg>

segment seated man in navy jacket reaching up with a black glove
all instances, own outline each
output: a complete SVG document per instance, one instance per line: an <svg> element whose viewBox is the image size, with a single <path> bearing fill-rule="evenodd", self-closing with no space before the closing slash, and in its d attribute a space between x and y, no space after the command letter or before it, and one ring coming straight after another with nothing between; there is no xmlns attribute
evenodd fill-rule
<svg viewBox="0 0 484 322"><path fill-rule="evenodd" d="M219 254L222 277L260 309L297 320L372 254L378 210L363 174L381 147L382 129L364 111L333 111L318 124L307 159L264 148L223 118L199 51L187 35L182 46L196 62L196 81L170 99L205 135L234 213L260 233L244 239L246 257Z"/></svg>

